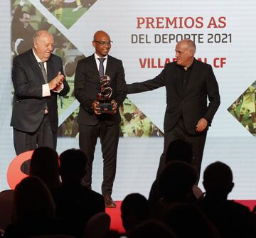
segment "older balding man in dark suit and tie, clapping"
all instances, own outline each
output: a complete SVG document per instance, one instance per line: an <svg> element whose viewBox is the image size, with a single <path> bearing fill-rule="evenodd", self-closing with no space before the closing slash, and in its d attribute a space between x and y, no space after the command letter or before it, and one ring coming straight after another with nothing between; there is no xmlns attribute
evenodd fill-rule
<svg viewBox="0 0 256 238"><path fill-rule="evenodd" d="M33 48L14 58L12 80L16 154L36 147L56 148L58 130L57 95L69 91L61 59L52 54L53 36L38 31Z"/></svg>

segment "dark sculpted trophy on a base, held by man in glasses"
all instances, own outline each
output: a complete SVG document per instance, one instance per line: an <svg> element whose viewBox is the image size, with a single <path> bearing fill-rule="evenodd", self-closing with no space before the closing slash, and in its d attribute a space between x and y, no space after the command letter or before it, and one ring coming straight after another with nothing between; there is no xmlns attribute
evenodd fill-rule
<svg viewBox="0 0 256 238"><path fill-rule="evenodd" d="M97 94L97 100L100 102L100 113L113 113L113 105L110 102L112 88L110 87L110 77L102 75L100 80L100 92Z"/></svg>

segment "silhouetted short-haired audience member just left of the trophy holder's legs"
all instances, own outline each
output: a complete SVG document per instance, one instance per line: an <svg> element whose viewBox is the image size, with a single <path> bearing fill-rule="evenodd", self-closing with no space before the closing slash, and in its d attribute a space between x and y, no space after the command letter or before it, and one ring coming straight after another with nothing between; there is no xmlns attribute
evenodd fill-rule
<svg viewBox="0 0 256 238"><path fill-rule="evenodd" d="M62 184L55 189L53 197L57 217L66 227L66 233L82 237L85 224L97 212L105 212L102 195L82 187L87 157L80 149L68 149L60 154Z"/></svg>

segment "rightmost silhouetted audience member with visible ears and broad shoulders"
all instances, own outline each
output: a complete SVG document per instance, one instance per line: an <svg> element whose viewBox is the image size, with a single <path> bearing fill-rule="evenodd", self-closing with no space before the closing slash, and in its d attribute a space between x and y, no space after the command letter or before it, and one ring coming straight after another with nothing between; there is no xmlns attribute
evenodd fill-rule
<svg viewBox="0 0 256 238"><path fill-rule="evenodd" d="M204 198L198 206L209 217L225 238L256 237L252 213L248 207L233 200L228 194L234 187L231 168L217 161L211 163L203 173Z"/></svg>

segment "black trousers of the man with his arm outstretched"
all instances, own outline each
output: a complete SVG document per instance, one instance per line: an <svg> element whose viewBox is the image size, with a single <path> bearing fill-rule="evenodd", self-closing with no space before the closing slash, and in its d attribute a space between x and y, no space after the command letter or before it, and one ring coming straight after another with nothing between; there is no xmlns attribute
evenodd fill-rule
<svg viewBox="0 0 256 238"><path fill-rule="evenodd" d="M206 144L206 135L207 131L203 131L203 133L200 134L188 134L182 119L179 119L177 121L173 129L171 129L170 131L164 131L164 151L160 157L157 175L159 175L159 173L161 173L161 171L163 171L164 169L166 150L169 144L177 139L182 139L191 143L193 146L193 159L191 161L191 164L194 168L196 168L199 176L201 172L201 163L203 160L203 149Z"/></svg>

